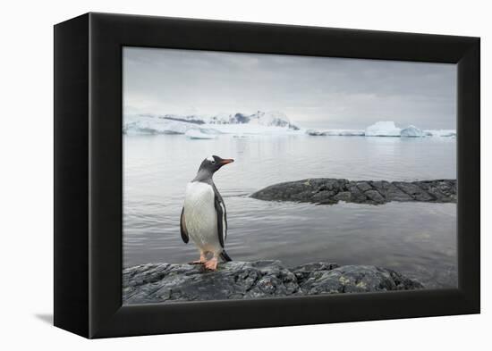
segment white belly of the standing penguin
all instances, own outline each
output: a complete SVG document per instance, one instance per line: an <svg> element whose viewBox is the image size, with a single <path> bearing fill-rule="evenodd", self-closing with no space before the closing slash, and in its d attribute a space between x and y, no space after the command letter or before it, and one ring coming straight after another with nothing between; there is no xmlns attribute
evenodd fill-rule
<svg viewBox="0 0 492 351"><path fill-rule="evenodd" d="M217 213L214 189L207 183L188 183L184 197L184 221L188 235L201 251L222 251L217 237Z"/></svg>

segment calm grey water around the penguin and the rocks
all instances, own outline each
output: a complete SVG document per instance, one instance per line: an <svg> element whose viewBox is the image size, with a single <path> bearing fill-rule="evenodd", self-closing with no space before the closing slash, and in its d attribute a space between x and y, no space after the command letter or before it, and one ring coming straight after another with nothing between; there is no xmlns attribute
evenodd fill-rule
<svg viewBox="0 0 492 351"><path fill-rule="evenodd" d="M454 287L456 205L310 205L251 199L268 185L306 178L456 178L454 138L259 136L190 140L124 137L124 266L198 258L180 237L186 183L208 155L232 157L214 180L227 206L226 248L235 260L374 264L428 288Z"/></svg>

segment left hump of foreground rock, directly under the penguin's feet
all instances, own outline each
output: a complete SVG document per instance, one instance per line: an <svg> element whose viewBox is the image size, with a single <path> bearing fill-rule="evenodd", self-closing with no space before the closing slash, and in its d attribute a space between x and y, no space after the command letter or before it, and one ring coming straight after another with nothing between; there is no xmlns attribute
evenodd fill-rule
<svg viewBox="0 0 492 351"><path fill-rule="evenodd" d="M200 264L143 264L123 271L127 304L172 300L286 297L299 286L293 272L278 261L219 263L216 272Z"/></svg>

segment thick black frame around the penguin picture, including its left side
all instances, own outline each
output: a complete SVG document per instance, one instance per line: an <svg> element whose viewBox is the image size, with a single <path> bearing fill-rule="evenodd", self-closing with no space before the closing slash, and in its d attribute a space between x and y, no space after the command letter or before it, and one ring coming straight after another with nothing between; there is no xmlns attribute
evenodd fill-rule
<svg viewBox="0 0 492 351"><path fill-rule="evenodd" d="M457 63L458 288L122 306L123 46ZM106 338L479 313L479 62L469 37L107 13L56 24L55 326Z"/></svg>

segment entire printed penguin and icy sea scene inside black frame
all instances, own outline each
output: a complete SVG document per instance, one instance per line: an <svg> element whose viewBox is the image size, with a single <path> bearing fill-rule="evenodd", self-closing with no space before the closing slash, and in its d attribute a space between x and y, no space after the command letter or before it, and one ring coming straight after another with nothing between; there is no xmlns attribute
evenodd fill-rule
<svg viewBox="0 0 492 351"><path fill-rule="evenodd" d="M123 47L123 304L457 287L456 65Z"/></svg>

